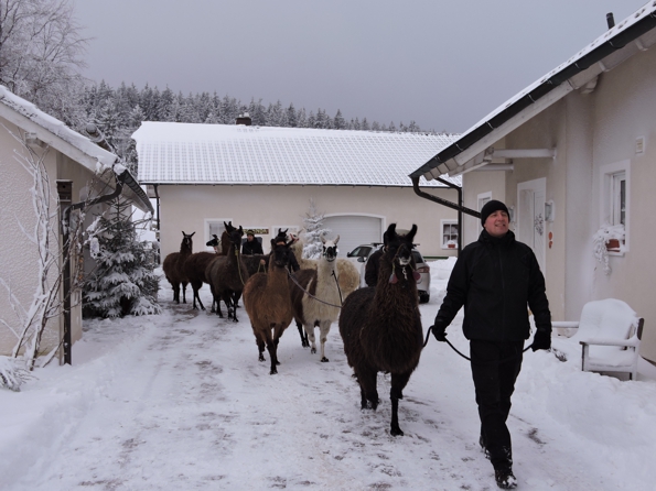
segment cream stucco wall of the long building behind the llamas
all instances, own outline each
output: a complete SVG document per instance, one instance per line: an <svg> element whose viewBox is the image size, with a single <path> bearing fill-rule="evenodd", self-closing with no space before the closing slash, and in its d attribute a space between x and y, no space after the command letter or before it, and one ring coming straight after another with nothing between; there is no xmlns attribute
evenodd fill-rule
<svg viewBox="0 0 656 491"><path fill-rule="evenodd" d="M162 258L180 250L182 230L194 236L194 251L205 250L205 219L230 219L233 225L298 226L309 211L310 198L324 215L354 214L383 218L409 229L417 223L416 242L422 254L453 255L440 247L440 220L456 219L456 211L420 198L412 188L353 186L159 186ZM451 189L429 193L456 201ZM338 230L334 231L340 233ZM268 252L264 238L265 252ZM341 251L346 254L347 251Z"/></svg>

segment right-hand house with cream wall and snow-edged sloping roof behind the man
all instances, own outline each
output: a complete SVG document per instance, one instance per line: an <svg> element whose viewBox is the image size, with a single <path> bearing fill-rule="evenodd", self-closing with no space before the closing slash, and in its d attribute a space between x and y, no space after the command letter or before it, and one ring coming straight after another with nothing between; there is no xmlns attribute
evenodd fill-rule
<svg viewBox="0 0 656 491"><path fill-rule="evenodd" d="M474 210L505 201L540 262L552 318L578 319L587 302L620 298L645 318L641 356L653 362L655 28L652 0L411 173L461 176ZM465 243L480 231L467 217Z"/></svg>

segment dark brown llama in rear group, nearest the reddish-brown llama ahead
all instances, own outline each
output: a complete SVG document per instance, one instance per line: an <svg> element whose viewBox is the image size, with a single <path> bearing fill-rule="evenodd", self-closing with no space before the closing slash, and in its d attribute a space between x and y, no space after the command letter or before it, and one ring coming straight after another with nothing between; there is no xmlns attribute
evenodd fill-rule
<svg viewBox="0 0 656 491"><path fill-rule="evenodd" d="M227 223L226 223L227 228ZM230 233L229 250L226 255L219 255L212 261L207 269L206 275L212 285L212 293L216 302L216 310L219 317L223 317L221 312L219 301L223 301L228 309L228 319L238 323L235 294L241 293L244 285L248 280L248 271L244 261L241 261L241 253L239 252L241 246L241 237L244 229L239 226Z"/></svg>

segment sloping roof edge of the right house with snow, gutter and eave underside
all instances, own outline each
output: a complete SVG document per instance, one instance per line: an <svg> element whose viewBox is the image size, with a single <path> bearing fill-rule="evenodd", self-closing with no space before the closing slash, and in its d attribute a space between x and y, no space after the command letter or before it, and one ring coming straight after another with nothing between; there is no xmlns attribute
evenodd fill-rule
<svg viewBox="0 0 656 491"><path fill-rule="evenodd" d="M473 171L491 163L494 144L525 121L576 89L594 88L596 77L656 43L656 0L624 19L516 96L501 105L448 146L437 152L410 177L432 179Z"/></svg>

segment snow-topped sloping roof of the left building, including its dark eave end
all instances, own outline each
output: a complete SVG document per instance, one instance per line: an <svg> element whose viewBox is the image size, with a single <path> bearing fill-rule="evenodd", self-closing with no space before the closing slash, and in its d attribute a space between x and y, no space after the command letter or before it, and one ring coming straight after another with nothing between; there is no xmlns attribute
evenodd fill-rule
<svg viewBox="0 0 656 491"><path fill-rule="evenodd" d="M118 157L114 153L101 149L88 138L73 131L58 119L12 94L2 85L0 85L0 117L25 132L33 133L41 142L90 172L99 173L106 168L114 170L117 176L120 175L120 181L128 185L127 188L123 188L123 195L143 211L154 211L146 192L141 189L139 183L125 166L117 164ZM108 184L112 185L112 183Z"/></svg>

